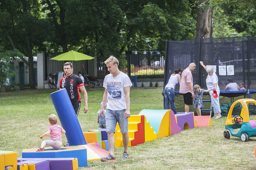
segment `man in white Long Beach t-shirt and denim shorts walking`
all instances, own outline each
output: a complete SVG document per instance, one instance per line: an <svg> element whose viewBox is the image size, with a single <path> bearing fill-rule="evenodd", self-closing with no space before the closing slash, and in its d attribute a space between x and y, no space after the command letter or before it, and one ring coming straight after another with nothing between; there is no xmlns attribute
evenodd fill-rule
<svg viewBox="0 0 256 170"><path fill-rule="evenodd" d="M116 161L115 158L115 127L117 122L122 133L122 142L124 152L122 159L128 159L128 118L130 117L130 87L132 82L128 75L122 73L118 69L119 61L117 58L110 56L105 64L110 74L106 75L103 83L105 92L103 94L102 106L100 113L104 114L104 106L108 102L106 108L106 129L108 133L109 155L101 158L101 161Z"/></svg>

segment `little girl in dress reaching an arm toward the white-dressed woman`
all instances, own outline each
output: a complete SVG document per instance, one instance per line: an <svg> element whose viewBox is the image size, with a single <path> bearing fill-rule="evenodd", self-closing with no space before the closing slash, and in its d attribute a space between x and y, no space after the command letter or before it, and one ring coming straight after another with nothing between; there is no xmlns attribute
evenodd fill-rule
<svg viewBox="0 0 256 170"><path fill-rule="evenodd" d="M195 93L194 108L197 110L197 115L201 116L200 108L204 107L203 102L202 102L203 93L204 92L209 92L213 89L204 90L204 89L201 89L198 84L196 84L193 88L194 88L194 93Z"/></svg>

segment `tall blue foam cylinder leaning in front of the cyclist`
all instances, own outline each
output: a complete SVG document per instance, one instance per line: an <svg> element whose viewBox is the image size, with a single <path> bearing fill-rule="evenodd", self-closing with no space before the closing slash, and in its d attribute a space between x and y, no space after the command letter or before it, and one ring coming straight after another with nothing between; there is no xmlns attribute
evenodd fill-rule
<svg viewBox="0 0 256 170"><path fill-rule="evenodd" d="M83 136L83 131L76 117L76 113L69 99L66 89L61 89L50 94L55 110L59 116L69 145L87 144Z"/></svg>

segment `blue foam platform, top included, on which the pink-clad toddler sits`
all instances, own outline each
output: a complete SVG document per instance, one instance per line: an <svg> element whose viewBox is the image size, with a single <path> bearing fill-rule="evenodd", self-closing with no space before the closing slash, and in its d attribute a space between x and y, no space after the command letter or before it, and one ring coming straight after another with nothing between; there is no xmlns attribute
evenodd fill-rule
<svg viewBox="0 0 256 170"><path fill-rule="evenodd" d="M36 152L37 148L22 150L22 158L78 158L78 166L87 166L87 150L82 146L61 147L60 150L53 150L48 147L45 151Z"/></svg>

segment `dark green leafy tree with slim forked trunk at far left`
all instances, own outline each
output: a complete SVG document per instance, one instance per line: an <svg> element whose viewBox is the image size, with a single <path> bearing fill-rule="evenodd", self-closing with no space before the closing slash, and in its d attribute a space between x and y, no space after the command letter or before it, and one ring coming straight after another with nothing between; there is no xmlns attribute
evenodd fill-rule
<svg viewBox="0 0 256 170"><path fill-rule="evenodd" d="M33 52L43 48L43 42L51 38L51 27L40 13L37 0L2 0L0 2L0 31L5 35L2 46L19 49L26 54L20 57L29 68L29 85L35 88Z"/></svg>

